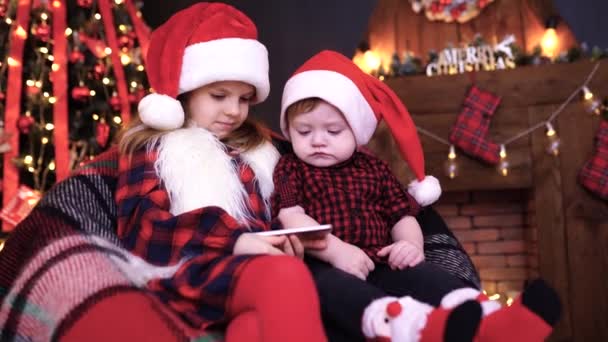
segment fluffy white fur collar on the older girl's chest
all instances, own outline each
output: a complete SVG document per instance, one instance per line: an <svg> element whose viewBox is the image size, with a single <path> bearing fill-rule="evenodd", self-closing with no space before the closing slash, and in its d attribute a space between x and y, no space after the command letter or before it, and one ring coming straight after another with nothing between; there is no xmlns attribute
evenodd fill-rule
<svg viewBox="0 0 608 342"><path fill-rule="evenodd" d="M278 152L266 143L241 156L253 169L267 201L273 190L272 172ZM238 170L224 144L206 129L188 127L164 135L155 168L169 193L173 215L217 206L241 223L248 219L247 192Z"/></svg>

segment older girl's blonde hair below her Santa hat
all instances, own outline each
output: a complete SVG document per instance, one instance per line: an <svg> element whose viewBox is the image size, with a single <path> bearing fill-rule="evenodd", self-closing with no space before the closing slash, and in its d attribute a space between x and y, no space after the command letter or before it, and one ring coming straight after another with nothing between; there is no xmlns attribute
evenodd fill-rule
<svg viewBox="0 0 608 342"><path fill-rule="evenodd" d="M178 96L178 100L182 103L183 108L186 107L188 101L188 94L181 94ZM184 127L188 120L188 113L186 111L186 120L184 120ZM124 155L133 155L135 151L153 144L158 141L164 134L169 131L160 131L154 128L146 126L139 116L134 118L127 127L123 128L118 134L118 150ZM252 150L267 141L271 141L270 130L264 127L259 122L248 117L243 124L232 131L228 136L221 139L221 141L241 152Z"/></svg>

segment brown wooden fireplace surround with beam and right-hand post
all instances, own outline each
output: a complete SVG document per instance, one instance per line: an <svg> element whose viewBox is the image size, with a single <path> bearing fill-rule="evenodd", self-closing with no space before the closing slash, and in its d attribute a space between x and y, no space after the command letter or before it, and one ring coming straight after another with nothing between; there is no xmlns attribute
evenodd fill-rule
<svg viewBox="0 0 608 342"><path fill-rule="evenodd" d="M608 61L602 63L589 84L599 98L608 96ZM480 88L502 96L490 139L503 141L546 120L582 85L593 66L582 61L475 74ZM471 75L464 74L403 77L387 84L417 125L447 139L471 81ZM448 147L421 136L427 174L437 176L446 191L530 189L540 275L557 290L563 306L552 341L608 341L608 204L577 181L593 153L599 121L585 112L580 99L573 101L554 123L562 141L559 156L545 153L547 138L539 129L508 146L513 168L507 177L461 153L460 175L450 180L443 173ZM389 162L402 182L411 179L386 126L379 127L369 147Z"/></svg>

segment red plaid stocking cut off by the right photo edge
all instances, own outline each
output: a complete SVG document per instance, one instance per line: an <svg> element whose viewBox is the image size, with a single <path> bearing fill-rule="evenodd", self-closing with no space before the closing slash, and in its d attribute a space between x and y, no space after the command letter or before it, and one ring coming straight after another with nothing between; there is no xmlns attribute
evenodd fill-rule
<svg viewBox="0 0 608 342"><path fill-rule="evenodd" d="M608 200L608 120L600 122L596 149L579 173L583 186L603 200Z"/></svg>

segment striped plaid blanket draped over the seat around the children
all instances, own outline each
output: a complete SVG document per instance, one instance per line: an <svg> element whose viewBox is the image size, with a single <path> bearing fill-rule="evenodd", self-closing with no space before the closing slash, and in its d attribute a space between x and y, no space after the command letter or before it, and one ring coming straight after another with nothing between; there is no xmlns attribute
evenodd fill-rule
<svg viewBox="0 0 608 342"><path fill-rule="evenodd" d="M120 247L117 173L116 150L100 155L47 192L6 241L0 253L0 341L56 340L86 314L87 303L123 291L150 295L144 284L173 272ZM426 208L417 218L427 260L478 287L472 263L441 217ZM222 339L217 332L192 331L173 317L167 312L180 339Z"/></svg>

